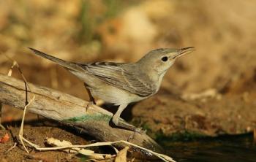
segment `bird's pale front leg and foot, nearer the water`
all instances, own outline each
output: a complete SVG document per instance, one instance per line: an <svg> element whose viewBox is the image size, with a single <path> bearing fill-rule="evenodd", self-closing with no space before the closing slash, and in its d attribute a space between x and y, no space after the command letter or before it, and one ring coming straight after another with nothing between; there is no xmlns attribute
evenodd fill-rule
<svg viewBox="0 0 256 162"><path fill-rule="evenodd" d="M140 128L136 128L135 126L132 126L131 124L125 122L124 120L122 120L120 118L121 112L123 112L126 107L127 107L127 104L121 104L118 107L116 114L113 115L113 117L112 117L112 122L116 126L119 126L121 128L127 128L130 131L136 131L136 132L140 133Z"/></svg>

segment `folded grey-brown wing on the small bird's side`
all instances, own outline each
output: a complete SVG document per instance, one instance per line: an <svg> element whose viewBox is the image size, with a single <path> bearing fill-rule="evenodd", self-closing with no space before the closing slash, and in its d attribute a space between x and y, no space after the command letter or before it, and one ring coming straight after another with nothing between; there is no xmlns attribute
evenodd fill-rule
<svg viewBox="0 0 256 162"><path fill-rule="evenodd" d="M91 75L117 88L129 91L138 96L150 96L157 88L154 85L143 82L132 72L123 68L124 63L97 62L80 63L83 69Z"/></svg>

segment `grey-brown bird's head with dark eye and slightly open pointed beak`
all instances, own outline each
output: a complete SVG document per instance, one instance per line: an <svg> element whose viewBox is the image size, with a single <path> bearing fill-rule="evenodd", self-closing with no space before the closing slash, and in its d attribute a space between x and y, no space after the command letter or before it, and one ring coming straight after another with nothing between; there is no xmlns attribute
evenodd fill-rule
<svg viewBox="0 0 256 162"><path fill-rule="evenodd" d="M157 50L151 50L144 55L138 63L144 70L154 69L159 75L165 74L167 69L173 65L177 58L182 55L186 55L195 50L195 47L184 47L180 49L173 48L159 48Z"/></svg>

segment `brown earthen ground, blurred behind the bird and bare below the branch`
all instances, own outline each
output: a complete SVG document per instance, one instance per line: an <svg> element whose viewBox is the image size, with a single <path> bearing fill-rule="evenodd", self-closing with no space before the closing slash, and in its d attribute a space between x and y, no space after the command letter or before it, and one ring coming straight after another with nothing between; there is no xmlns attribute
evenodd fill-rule
<svg viewBox="0 0 256 162"><path fill-rule="evenodd" d="M18 61L26 80L89 99L83 83L34 47L67 61L137 61L159 47L195 46L167 72L155 96L122 117L154 139L252 133L256 128L255 1L0 1L0 72ZM21 78L15 69L12 77ZM1 97L1 96L0 96ZM111 109L113 112L115 109ZM83 161L64 152L26 154L17 141L22 111L4 105L0 161ZM53 121L28 113L24 136L93 142ZM6 151L18 142L17 147ZM107 148L108 150L108 148Z"/></svg>

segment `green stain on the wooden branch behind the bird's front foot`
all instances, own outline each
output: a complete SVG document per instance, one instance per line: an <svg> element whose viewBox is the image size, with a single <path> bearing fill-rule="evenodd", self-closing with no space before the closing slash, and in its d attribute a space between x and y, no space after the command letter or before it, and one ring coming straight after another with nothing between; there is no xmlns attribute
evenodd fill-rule
<svg viewBox="0 0 256 162"><path fill-rule="evenodd" d="M70 117L69 119L65 119L64 121L71 121L71 122L83 122L83 121L105 121L109 122L111 120L112 116L110 115L104 115L104 114L95 114L95 115L81 115L78 117Z"/></svg>

